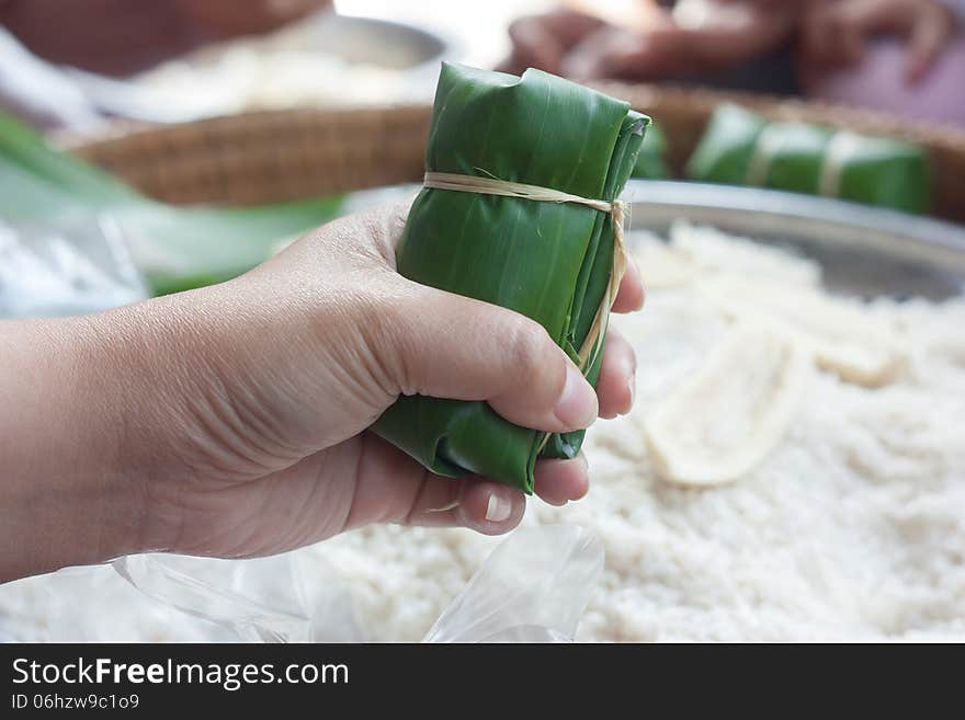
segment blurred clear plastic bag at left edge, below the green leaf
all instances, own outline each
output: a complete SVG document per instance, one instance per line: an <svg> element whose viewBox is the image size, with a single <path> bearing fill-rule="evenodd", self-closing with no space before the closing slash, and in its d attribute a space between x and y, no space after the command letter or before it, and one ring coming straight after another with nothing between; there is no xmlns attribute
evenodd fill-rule
<svg viewBox="0 0 965 720"><path fill-rule="evenodd" d="M84 315L147 297L107 216L73 224L0 219L0 318Z"/></svg>

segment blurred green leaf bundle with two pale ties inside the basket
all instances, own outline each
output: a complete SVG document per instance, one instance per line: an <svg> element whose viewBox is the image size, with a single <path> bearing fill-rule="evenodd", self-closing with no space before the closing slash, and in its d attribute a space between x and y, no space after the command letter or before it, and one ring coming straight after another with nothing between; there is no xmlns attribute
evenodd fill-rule
<svg viewBox="0 0 965 720"><path fill-rule="evenodd" d="M688 175L923 213L931 195L924 150L911 142L804 123L769 123L737 105L714 113Z"/></svg>

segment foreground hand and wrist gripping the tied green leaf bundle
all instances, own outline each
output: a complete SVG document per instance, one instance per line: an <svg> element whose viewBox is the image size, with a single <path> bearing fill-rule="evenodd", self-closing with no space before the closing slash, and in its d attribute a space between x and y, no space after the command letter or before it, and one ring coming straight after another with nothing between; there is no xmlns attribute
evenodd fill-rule
<svg viewBox="0 0 965 720"><path fill-rule="evenodd" d="M222 285L70 321L71 352L95 375L71 382L84 426L103 418L113 438L88 443L111 458L98 475L143 499L136 539L111 555L258 556L368 523L506 533L522 493L433 476L366 428L402 392L487 400L553 432L629 409L634 355L613 330L598 405L535 322L399 275L405 210L327 225ZM614 309L642 302L631 267ZM581 498L586 461L540 461L535 489L557 505Z"/></svg>

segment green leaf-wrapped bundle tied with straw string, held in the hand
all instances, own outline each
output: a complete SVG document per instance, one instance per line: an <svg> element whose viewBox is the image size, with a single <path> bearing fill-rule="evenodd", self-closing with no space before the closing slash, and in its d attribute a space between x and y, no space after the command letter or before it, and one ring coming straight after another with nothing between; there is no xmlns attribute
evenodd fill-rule
<svg viewBox="0 0 965 720"><path fill-rule="evenodd" d="M648 124L625 102L538 70L516 78L444 64L399 272L532 318L595 384L622 272L621 218L610 209L622 207ZM486 190L500 185L523 192ZM526 493L536 458L574 457L583 436L547 437L485 402L424 396L399 398L373 428L436 473Z"/></svg>

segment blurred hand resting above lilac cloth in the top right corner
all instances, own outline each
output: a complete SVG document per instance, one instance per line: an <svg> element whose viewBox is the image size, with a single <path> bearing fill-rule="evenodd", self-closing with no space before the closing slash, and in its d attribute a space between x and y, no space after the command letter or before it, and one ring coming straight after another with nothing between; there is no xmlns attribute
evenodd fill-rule
<svg viewBox="0 0 965 720"><path fill-rule="evenodd" d="M945 48L953 28L951 11L935 0L818 0L805 15L804 59L809 71L853 65L875 35L898 35L907 44L906 80L916 82Z"/></svg>

